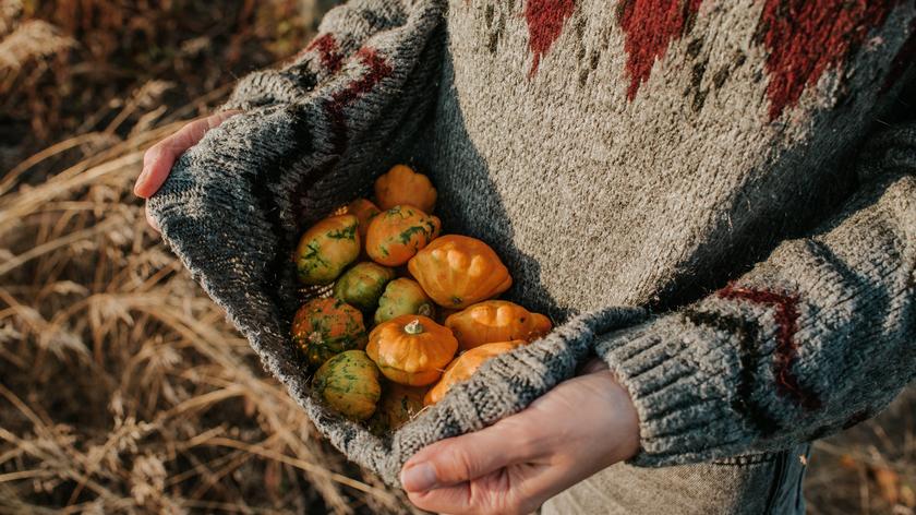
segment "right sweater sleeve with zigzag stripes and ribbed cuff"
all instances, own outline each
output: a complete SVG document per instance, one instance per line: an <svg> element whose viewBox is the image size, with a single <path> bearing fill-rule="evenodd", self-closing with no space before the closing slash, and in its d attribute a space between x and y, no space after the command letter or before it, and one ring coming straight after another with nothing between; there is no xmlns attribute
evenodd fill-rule
<svg viewBox="0 0 916 515"><path fill-rule="evenodd" d="M596 345L664 466L784 448L876 415L916 375L916 123L860 153L859 191L726 287Z"/></svg>

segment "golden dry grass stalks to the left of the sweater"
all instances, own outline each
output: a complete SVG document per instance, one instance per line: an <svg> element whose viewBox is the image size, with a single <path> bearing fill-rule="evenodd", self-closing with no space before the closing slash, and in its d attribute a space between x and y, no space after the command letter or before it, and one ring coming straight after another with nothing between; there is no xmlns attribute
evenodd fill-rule
<svg viewBox="0 0 916 515"><path fill-rule="evenodd" d="M59 4L55 15L74 5L91 17L123 9L50 3ZM237 3L240 12L252 9L252 19L296 8ZM72 119L25 108L3 115L25 112L28 125L60 137L0 175L0 513L402 510L402 499L322 442L146 227L131 194L145 147L218 101L232 76L218 61L202 69L186 86L212 93L182 107L169 107L169 82L156 79L174 82L177 73L138 74L107 95L107 75L79 79L73 70L86 62L82 52L98 32L29 19L28 5L0 5L8 13L0 25L4 93L51 95L25 91L41 89L50 73L69 77L68 91L85 87L94 109ZM304 37L308 28L296 31ZM62 43L22 44L35 31ZM252 38L239 47L255 45ZM176 40L171 50L213 45ZM284 55L264 53L270 61ZM52 104L65 101L64 92ZM44 140L24 134L11 147L22 152Z"/></svg>

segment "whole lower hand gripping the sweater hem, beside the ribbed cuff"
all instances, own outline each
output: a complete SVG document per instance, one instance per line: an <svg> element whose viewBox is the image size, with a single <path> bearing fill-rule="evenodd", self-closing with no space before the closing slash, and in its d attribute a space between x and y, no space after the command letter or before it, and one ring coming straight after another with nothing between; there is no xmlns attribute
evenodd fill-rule
<svg viewBox="0 0 916 515"><path fill-rule="evenodd" d="M410 501L431 512L530 513L639 448L639 420L606 368L561 383L528 409L443 440L401 469ZM595 371L596 370L596 371Z"/></svg>

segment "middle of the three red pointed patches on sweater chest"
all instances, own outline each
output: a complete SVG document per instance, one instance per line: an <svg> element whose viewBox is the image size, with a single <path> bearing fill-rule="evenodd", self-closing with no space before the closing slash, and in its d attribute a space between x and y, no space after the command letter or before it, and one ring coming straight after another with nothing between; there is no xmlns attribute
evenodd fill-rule
<svg viewBox="0 0 916 515"><path fill-rule="evenodd" d="M620 28L626 34L627 98L636 98L639 86L649 80L656 60L665 57L668 45L691 25L702 0L624 0Z"/></svg>

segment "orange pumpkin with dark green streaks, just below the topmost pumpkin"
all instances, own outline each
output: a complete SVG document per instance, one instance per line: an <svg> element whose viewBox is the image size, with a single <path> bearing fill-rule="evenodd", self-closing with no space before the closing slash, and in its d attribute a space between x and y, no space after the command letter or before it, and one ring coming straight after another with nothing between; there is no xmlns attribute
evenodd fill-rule
<svg viewBox="0 0 916 515"><path fill-rule="evenodd" d="M385 266L408 262L439 233L442 224L412 205L398 205L375 215L365 236L365 251Z"/></svg>

